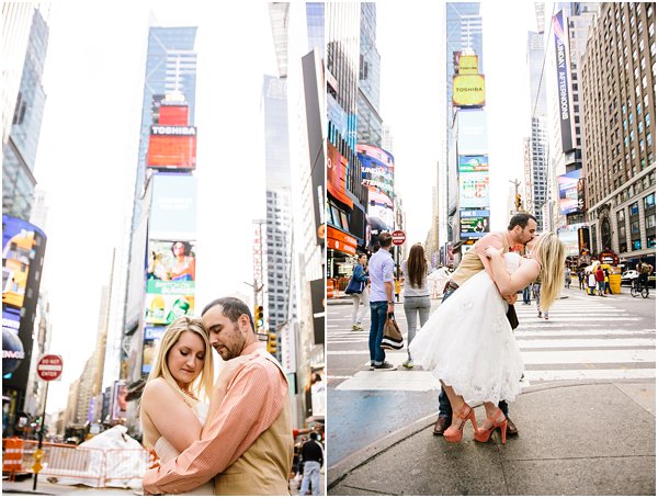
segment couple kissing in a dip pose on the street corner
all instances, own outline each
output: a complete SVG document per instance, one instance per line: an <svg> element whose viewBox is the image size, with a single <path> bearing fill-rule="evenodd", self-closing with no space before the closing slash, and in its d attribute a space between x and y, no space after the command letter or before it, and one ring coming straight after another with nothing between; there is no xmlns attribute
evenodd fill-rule
<svg viewBox="0 0 658 498"><path fill-rule="evenodd" d="M487 442L497 428L503 443L517 433L506 401L520 394L524 364L512 332L518 321L511 306L517 293L538 278L538 306L548 310L559 296L565 262L557 235L535 238L536 227L534 216L519 213L507 231L479 239L452 274L443 303L409 344L416 362L441 382L434 434L449 442L462 440L467 420L479 442ZM515 246L525 246L525 258L513 252ZM481 426L473 410L478 404L486 411Z"/></svg>

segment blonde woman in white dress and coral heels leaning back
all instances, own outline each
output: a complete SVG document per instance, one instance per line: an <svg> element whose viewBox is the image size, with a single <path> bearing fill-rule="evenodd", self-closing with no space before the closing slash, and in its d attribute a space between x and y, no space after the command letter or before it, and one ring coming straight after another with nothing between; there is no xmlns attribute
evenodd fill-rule
<svg viewBox="0 0 658 498"><path fill-rule="evenodd" d="M441 381L453 410L443 432L449 442L462 440L466 420L474 438L487 442L496 428L506 442L507 418L501 399L513 401L521 392L523 360L506 317L501 295L514 294L542 279L540 307L547 310L564 282L565 248L553 233L542 235L529 258L488 247L490 273L483 270L461 285L430 317L409 344L424 370ZM472 406L484 403L487 420L477 427Z"/></svg>

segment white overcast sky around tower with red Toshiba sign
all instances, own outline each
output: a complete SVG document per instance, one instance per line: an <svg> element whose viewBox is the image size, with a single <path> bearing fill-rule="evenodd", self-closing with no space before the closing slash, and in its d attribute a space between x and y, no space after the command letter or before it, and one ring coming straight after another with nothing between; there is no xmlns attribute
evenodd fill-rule
<svg viewBox="0 0 658 498"><path fill-rule="evenodd" d="M93 352L112 249L126 242L150 21L198 26L197 307L251 295L242 282L252 280L252 220L265 216L262 75L274 70L265 3L234 2L230 13L205 1L152 3L152 12L146 1L50 9L35 176L48 205L49 350L64 355L64 381L50 386L48 411L66 406Z"/></svg>

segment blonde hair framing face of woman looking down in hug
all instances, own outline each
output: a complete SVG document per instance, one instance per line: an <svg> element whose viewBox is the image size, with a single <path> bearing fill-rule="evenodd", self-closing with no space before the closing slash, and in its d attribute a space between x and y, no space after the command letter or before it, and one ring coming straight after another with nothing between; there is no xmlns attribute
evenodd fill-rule
<svg viewBox="0 0 658 498"><path fill-rule="evenodd" d="M196 333L205 346L205 356L203 362L203 367L201 370L200 375L192 381L192 384L189 386L191 393L193 393L198 399L202 397L208 398L211 396L211 392L213 389L213 350L211 348L211 341L208 339L208 332L204 328L201 319L192 318L189 316L182 316L177 318L171 322L169 327L167 327L167 331L162 336L160 341L160 347L158 348L158 356L154 362L151 372L148 376L147 383L162 377L174 392L180 393L185 403L192 405L194 399L189 395L183 393L183 391L179 387L169 370L169 365L167 364L167 358L169 356L169 351L175 346L178 340L180 339L183 332L193 332Z"/></svg>

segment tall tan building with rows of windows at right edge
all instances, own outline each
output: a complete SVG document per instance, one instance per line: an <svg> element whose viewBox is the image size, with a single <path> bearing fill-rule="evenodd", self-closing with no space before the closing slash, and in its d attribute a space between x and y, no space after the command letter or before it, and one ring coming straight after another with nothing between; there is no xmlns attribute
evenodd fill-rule
<svg viewBox="0 0 658 498"><path fill-rule="evenodd" d="M592 253L656 258L655 3L603 3L582 57Z"/></svg>

